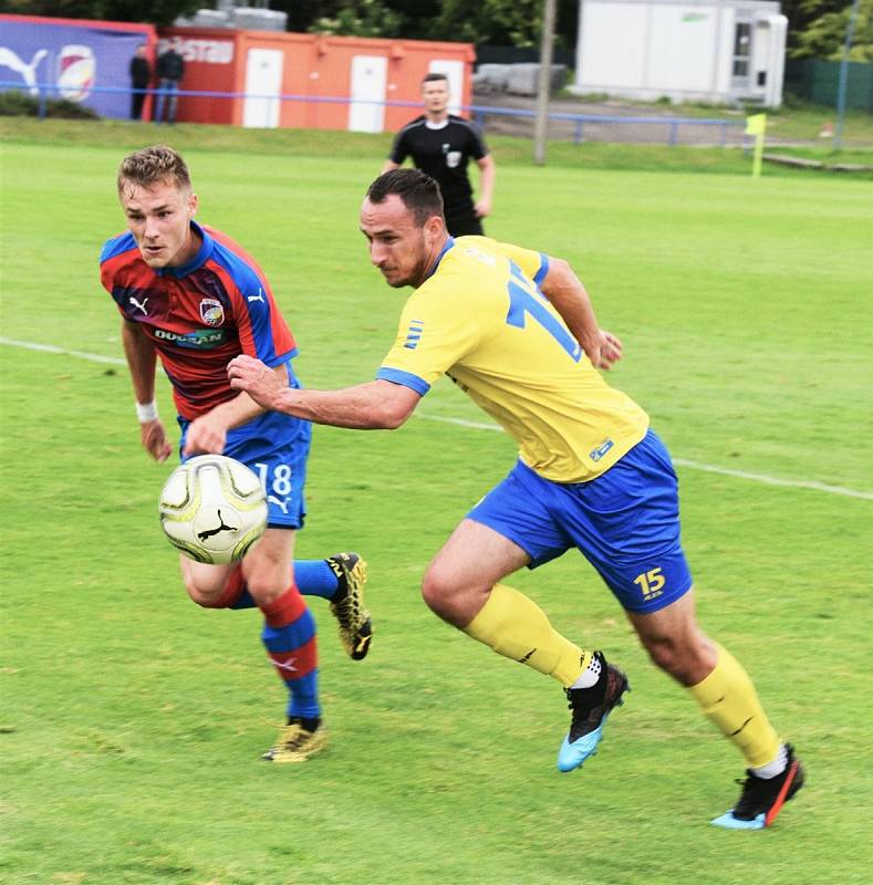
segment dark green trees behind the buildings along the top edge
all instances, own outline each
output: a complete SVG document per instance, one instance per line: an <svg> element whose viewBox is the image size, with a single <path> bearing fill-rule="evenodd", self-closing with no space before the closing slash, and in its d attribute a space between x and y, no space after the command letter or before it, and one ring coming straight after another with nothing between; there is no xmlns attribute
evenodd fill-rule
<svg viewBox="0 0 873 885"><path fill-rule="evenodd" d="M172 24L207 0L0 0L22 15ZM246 6L246 0L239 0ZM539 45L542 0L270 0L288 30L351 37L450 40L488 46ZM782 0L791 59L840 59L852 0ZM558 0L555 43L575 48L578 0ZM860 0L852 61L873 61L873 0Z"/></svg>

